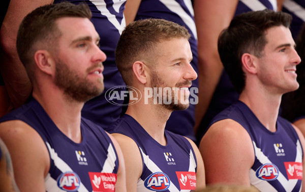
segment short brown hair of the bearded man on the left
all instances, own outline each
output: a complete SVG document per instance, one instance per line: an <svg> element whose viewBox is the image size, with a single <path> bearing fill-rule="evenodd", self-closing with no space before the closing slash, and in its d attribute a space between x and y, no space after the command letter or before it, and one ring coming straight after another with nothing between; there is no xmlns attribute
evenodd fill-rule
<svg viewBox="0 0 305 192"><path fill-rule="evenodd" d="M26 72L33 80L34 54L39 49L56 51L58 38L62 35L56 20L63 17L92 18L86 4L68 2L39 7L26 15L17 34L17 51Z"/></svg>

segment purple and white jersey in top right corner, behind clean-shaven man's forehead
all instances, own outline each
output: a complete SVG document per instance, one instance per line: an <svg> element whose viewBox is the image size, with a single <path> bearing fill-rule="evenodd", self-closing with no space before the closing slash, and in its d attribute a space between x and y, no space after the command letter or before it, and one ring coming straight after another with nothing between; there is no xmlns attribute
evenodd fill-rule
<svg viewBox="0 0 305 192"><path fill-rule="evenodd" d="M294 40L297 39L305 21L305 1L303 0L285 0L283 3L283 12L292 15L290 31Z"/></svg>

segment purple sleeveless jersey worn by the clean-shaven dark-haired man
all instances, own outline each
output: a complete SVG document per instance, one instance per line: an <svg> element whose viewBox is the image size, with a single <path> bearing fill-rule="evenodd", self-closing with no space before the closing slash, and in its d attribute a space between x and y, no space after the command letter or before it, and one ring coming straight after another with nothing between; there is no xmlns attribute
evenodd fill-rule
<svg viewBox="0 0 305 192"><path fill-rule="evenodd" d="M211 124L223 119L236 121L251 137L255 152L255 161L249 171L252 185L268 192L301 190L302 146L287 120L278 117L277 131L270 132L241 101L226 108Z"/></svg>

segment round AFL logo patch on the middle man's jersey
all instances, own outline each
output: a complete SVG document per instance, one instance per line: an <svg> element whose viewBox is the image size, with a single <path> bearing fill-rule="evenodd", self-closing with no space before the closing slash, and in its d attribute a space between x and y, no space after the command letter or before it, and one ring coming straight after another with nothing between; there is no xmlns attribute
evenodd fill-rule
<svg viewBox="0 0 305 192"><path fill-rule="evenodd" d="M169 185L169 177L162 172L153 173L149 175L144 181L144 186L149 190L154 191L164 191L168 189Z"/></svg>

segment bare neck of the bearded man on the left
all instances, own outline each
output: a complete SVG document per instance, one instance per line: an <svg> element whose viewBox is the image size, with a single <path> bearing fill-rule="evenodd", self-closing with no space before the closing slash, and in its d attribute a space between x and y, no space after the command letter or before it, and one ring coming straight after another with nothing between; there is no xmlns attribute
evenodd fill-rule
<svg viewBox="0 0 305 192"><path fill-rule="evenodd" d="M47 94L33 92L33 97L41 104L57 128L75 143L80 143L81 108L84 103L72 102L59 91L49 91Z"/></svg>

